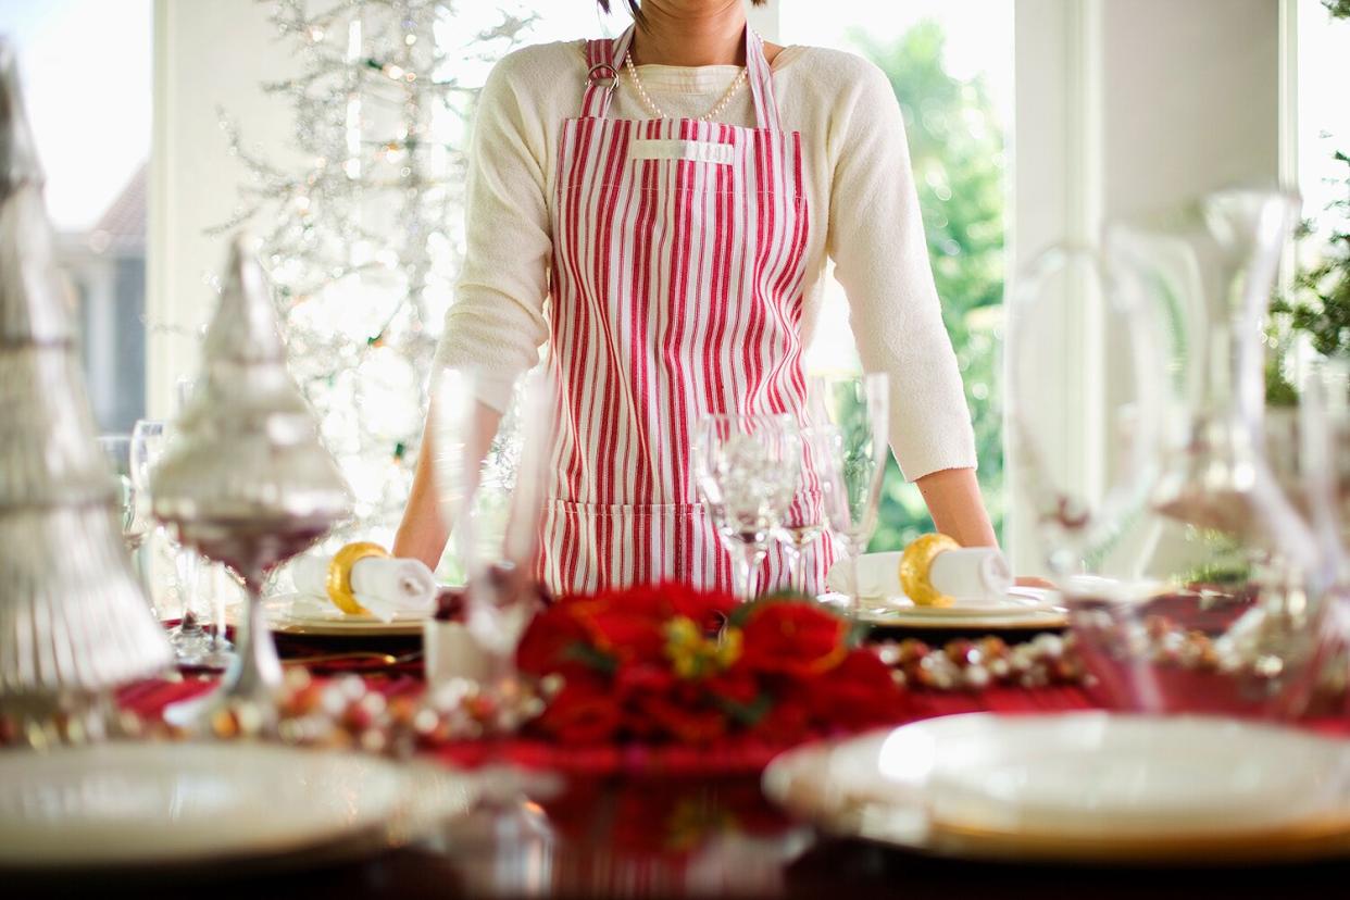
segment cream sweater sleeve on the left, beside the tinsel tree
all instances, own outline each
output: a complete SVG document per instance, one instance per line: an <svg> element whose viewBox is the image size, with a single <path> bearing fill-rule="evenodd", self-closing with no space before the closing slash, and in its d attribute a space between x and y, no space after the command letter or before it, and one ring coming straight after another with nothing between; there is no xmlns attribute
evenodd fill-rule
<svg viewBox="0 0 1350 900"><path fill-rule="evenodd" d="M548 337L552 235L541 116L522 103L518 55L494 66L478 99L468 157L464 260L436 366L474 368L481 398L505 409Z"/></svg>

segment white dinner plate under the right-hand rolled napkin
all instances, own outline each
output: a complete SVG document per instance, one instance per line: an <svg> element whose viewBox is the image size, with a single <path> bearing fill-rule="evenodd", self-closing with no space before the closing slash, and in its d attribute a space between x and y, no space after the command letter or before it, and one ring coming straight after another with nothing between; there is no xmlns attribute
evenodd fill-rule
<svg viewBox="0 0 1350 900"><path fill-rule="evenodd" d="M1068 625L1060 595L1014 587L1002 598L952 606L915 606L906 596L863 600L857 618L878 627L907 629L1056 629Z"/></svg>

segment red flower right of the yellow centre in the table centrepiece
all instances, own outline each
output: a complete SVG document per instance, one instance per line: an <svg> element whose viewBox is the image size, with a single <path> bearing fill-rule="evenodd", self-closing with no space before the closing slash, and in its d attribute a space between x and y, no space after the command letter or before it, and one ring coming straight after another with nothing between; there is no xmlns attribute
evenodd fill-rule
<svg viewBox="0 0 1350 900"><path fill-rule="evenodd" d="M757 604L741 626L741 665L753 672L813 677L848 654L848 622L818 603L770 600Z"/></svg>

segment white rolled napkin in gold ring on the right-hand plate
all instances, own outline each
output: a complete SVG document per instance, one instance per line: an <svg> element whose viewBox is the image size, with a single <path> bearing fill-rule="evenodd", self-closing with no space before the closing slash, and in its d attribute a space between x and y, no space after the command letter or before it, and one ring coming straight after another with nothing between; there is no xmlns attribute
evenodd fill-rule
<svg viewBox="0 0 1350 900"><path fill-rule="evenodd" d="M903 596L900 557L903 553L864 553L857 559L859 590L853 590L853 565L838 560L825 583L832 591L861 598ZM940 594L957 602L1002 599L1013 587L1007 559L992 546L965 546L944 551L933 559L929 580Z"/></svg>

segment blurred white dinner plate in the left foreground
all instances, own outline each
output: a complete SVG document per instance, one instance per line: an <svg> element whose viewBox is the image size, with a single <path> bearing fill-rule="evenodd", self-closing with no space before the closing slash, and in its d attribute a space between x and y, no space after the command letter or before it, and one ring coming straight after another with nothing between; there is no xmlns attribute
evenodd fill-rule
<svg viewBox="0 0 1350 900"><path fill-rule="evenodd" d="M429 764L267 743L0 752L0 868L147 868L369 854L473 804Z"/></svg>

